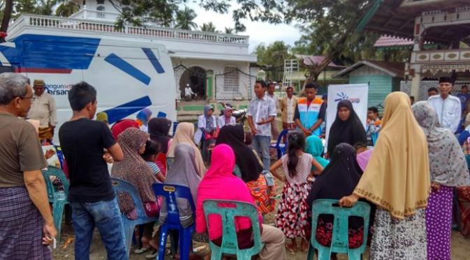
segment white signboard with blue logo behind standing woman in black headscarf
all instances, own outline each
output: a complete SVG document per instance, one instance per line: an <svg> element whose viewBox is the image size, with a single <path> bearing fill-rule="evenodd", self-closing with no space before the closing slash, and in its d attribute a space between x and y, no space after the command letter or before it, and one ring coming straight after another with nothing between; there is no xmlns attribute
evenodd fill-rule
<svg viewBox="0 0 470 260"><path fill-rule="evenodd" d="M353 108L358 114L360 121L366 126L367 122L367 94L369 93L368 84L342 84L328 86L328 108L326 109L326 142L328 145L328 135L330 128L335 121L338 102L349 100L353 103ZM325 151L327 149L325 145Z"/></svg>

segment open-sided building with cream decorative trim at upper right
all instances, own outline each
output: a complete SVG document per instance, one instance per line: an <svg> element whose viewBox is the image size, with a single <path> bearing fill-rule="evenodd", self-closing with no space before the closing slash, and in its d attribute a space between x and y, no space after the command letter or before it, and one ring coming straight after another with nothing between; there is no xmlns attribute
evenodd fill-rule
<svg viewBox="0 0 470 260"><path fill-rule="evenodd" d="M426 97L429 79L470 79L470 1L377 0L363 21L366 30L385 35L376 47L412 48L404 76L417 99Z"/></svg>

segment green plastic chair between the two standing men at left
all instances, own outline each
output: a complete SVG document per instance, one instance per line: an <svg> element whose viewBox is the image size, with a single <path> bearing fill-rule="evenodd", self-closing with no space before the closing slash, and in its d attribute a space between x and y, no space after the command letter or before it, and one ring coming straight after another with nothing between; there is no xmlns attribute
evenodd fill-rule
<svg viewBox="0 0 470 260"><path fill-rule="evenodd" d="M62 215L64 215L64 207L68 204L67 195L68 188L70 188L70 183L68 183L68 178L65 176L64 171L57 167L49 166L47 170L43 171L45 186L47 188L47 199L49 203L52 204L52 216L54 217L54 225L57 229L57 241L60 241L60 231L62 224ZM58 191L55 190L54 185L50 179L51 176L57 177L60 179L64 190Z"/></svg>

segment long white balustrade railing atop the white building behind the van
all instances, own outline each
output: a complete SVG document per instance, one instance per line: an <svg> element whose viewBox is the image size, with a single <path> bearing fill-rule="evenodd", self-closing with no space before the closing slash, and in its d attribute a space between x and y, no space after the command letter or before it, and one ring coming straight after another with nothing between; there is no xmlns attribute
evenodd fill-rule
<svg viewBox="0 0 470 260"><path fill-rule="evenodd" d="M112 33L142 37L169 38L187 40L191 42L218 43L228 45L248 46L249 36L235 36L224 33L210 33L205 31L188 31L163 27L124 26L117 29L114 22L94 21L85 19L72 19L43 15L22 15L8 29L8 38L17 36L22 29L44 28L67 31L90 31L96 33Z"/></svg>

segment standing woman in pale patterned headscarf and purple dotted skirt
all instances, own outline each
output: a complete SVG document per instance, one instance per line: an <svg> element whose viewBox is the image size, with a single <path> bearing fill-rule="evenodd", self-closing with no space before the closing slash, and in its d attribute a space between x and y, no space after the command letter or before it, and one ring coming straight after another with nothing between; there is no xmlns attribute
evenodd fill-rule
<svg viewBox="0 0 470 260"><path fill-rule="evenodd" d="M412 107L427 137L431 189L426 208L427 259L450 260L450 226L454 187L470 185L469 169L460 144L439 125L434 107L420 101Z"/></svg>

